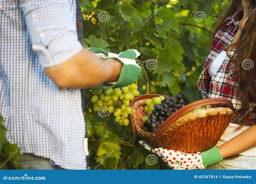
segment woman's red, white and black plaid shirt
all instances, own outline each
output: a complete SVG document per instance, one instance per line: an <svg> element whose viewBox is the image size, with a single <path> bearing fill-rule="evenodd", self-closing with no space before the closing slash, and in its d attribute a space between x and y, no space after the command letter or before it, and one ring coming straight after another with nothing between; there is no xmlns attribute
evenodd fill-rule
<svg viewBox="0 0 256 184"><path fill-rule="evenodd" d="M203 73L201 73L198 80L198 88L202 91L204 98L218 98L224 97L233 103L235 109L234 117L232 123L240 124L242 119L246 114L242 114L241 110L241 99L238 90L238 81L234 77L235 67L234 62L232 62L228 57L224 60L223 64L220 66L217 74L212 78L207 72L207 68L210 63L216 58L216 56L222 52L228 45L230 45L235 31L238 29L239 20L242 18L242 9L239 9L233 16L226 19L223 26L215 34L212 42L210 54L207 56L205 61L205 66ZM230 53L235 54L235 49L233 48ZM249 115L248 124L253 125L255 122L255 100L250 102L250 109L247 111Z"/></svg>

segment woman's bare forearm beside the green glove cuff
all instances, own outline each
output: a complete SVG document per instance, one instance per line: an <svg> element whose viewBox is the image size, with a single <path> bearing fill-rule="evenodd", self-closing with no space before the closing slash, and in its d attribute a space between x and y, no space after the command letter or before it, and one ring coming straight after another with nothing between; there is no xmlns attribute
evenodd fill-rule
<svg viewBox="0 0 256 184"><path fill-rule="evenodd" d="M223 158L231 157L256 146L256 125L218 147Z"/></svg>

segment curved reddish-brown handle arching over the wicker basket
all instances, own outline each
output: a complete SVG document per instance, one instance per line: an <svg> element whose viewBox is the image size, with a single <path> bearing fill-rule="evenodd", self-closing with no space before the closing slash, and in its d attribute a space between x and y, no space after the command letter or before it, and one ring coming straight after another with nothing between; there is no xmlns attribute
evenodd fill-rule
<svg viewBox="0 0 256 184"><path fill-rule="evenodd" d="M227 100L226 98L206 98L203 100L199 100L185 105L183 108L180 108L178 111L174 112L165 120L168 123L161 124L159 128L154 132L154 135L157 136L159 132L162 132L166 128L166 126L169 126L172 122L175 122L180 116L185 115L187 112L207 105L222 105L224 107L231 108L234 111L232 102Z"/></svg>

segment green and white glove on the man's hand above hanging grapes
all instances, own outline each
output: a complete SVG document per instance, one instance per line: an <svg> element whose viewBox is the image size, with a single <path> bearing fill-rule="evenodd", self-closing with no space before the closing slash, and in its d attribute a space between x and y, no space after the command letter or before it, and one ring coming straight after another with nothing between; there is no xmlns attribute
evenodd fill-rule
<svg viewBox="0 0 256 184"><path fill-rule="evenodd" d="M98 47L89 48L89 51L95 53L100 59L107 60L113 58L123 64L118 81L109 86L102 85L101 87L103 89L129 86L131 83L135 82L142 73L142 68L136 63L136 58L140 53L135 49L128 49L119 54L111 53Z"/></svg>

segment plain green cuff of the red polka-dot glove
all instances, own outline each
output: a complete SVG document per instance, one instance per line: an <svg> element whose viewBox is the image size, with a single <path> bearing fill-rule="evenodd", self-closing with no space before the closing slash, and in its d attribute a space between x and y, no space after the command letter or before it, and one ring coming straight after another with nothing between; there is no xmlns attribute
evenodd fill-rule
<svg viewBox="0 0 256 184"><path fill-rule="evenodd" d="M210 166L223 160L220 151L216 146L212 147L210 150L201 152L201 158L203 160L204 167Z"/></svg>

